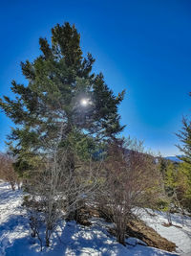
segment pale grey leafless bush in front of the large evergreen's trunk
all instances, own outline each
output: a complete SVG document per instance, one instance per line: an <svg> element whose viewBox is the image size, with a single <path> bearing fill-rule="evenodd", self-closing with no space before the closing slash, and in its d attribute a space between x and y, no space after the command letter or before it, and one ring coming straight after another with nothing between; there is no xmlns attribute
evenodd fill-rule
<svg viewBox="0 0 191 256"><path fill-rule="evenodd" d="M84 163L75 156L74 168L71 166L67 149L52 150L43 158L39 169L28 183L28 209L31 211L33 234L39 236L39 222L45 224L45 244L50 245L50 238L58 221L67 219L71 212L81 207L81 202L91 197L96 190L96 174L100 164L90 159ZM42 215L36 215L36 212ZM39 217L39 220L36 218ZM40 238L40 243L43 239Z"/></svg>

